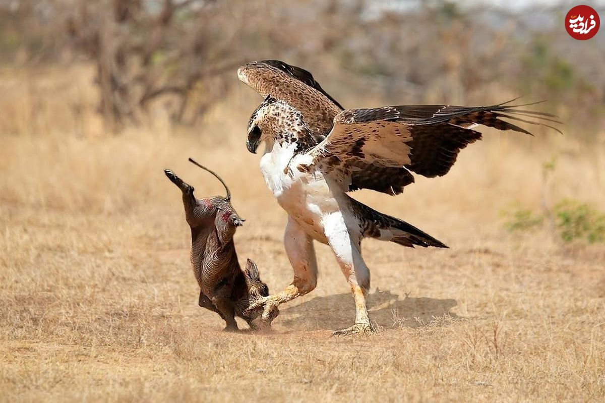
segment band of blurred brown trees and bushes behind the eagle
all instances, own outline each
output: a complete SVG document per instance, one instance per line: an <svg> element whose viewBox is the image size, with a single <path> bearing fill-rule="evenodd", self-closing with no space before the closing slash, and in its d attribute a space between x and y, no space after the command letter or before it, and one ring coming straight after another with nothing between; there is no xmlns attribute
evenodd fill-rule
<svg viewBox="0 0 605 403"><path fill-rule="evenodd" d="M572 5L0 0L0 63L33 78L94 66L96 113L111 132L157 116L193 126L239 85L238 65L270 58L312 71L347 107L548 99L543 109L573 122L566 134L592 141L605 121L605 34L570 38Z"/></svg>

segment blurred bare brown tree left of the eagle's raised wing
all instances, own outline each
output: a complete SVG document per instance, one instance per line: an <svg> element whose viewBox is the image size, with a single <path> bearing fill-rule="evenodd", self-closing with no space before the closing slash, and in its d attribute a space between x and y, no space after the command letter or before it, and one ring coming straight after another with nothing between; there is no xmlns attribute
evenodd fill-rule
<svg viewBox="0 0 605 403"><path fill-rule="evenodd" d="M215 35L205 28L214 4L214 0L79 0L68 31L76 48L96 64L99 111L108 129L140 125L159 97L175 100L174 122L192 123L224 95L226 86L214 86L191 105L191 93L199 84L243 63L221 57L224 52L215 45L220 41L206 44Z"/></svg>

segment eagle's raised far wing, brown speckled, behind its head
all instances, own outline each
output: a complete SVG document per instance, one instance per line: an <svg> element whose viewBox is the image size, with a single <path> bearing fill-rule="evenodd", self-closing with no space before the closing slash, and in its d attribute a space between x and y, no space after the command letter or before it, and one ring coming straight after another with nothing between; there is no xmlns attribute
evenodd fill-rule
<svg viewBox="0 0 605 403"><path fill-rule="evenodd" d="M309 71L278 60L252 62L240 67L237 76L263 97L283 100L302 113L309 129L325 136L343 108L321 88Z"/></svg>

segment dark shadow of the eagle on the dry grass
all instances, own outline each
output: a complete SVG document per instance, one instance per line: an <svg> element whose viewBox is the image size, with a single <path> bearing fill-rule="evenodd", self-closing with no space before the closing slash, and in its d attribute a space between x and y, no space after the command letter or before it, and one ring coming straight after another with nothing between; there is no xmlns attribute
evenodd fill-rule
<svg viewBox="0 0 605 403"><path fill-rule="evenodd" d="M384 329L421 327L429 324L446 324L460 319L450 310L456 300L440 300L428 297L399 298L390 291L368 295L370 320ZM342 329L355 321L355 303L350 293L315 297L312 300L283 309L281 325L291 330L335 330Z"/></svg>

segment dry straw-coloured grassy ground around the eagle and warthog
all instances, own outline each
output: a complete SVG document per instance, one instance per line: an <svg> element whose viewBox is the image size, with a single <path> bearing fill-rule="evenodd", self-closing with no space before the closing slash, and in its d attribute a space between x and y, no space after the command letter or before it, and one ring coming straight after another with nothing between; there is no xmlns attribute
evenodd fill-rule
<svg viewBox="0 0 605 403"><path fill-rule="evenodd" d="M218 171L247 218L240 260L257 261L272 292L289 284L286 214L244 146L260 98L240 88L195 133L159 116L114 136L73 106L94 98L90 71L64 73L0 75L0 400L605 399L605 246L511 234L501 216L514 202L539 210L545 188L605 208L602 142L581 145L569 125L485 130L446 177L399 197L356 193L451 248L365 241L378 335L330 337L354 305L321 245L317 289L282 306L272 333L224 333L197 306L189 229L162 169L198 197L222 189L187 157Z"/></svg>

